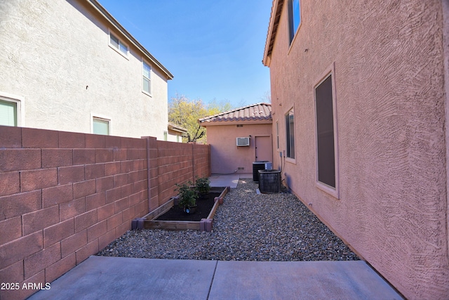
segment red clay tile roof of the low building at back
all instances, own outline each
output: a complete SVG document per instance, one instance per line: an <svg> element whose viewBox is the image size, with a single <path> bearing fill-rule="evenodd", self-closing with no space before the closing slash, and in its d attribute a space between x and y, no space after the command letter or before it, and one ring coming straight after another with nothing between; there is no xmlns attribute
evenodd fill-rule
<svg viewBox="0 0 449 300"><path fill-rule="evenodd" d="M272 105L268 103L256 103L245 107L240 107L228 112L198 119L201 126L212 125L220 122L251 122L251 123L271 123Z"/></svg>

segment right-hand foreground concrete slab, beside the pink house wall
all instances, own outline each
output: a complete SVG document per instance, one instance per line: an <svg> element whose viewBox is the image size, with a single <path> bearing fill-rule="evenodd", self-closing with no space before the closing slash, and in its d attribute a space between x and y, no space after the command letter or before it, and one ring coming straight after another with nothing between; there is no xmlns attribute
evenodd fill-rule
<svg viewBox="0 0 449 300"><path fill-rule="evenodd" d="M218 261L208 299L402 297L364 261Z"/></svg>

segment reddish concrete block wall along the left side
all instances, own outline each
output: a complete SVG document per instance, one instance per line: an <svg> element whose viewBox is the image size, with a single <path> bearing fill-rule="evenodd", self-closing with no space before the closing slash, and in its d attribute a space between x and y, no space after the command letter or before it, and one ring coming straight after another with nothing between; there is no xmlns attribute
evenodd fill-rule
<svg viewBox="0 0 449 300"><path fill-rule="evenodd" d="M173 181L208 176L207 157L206 145L0 126L0 282L20 285L0 299L96 254L175 195Z"/></svg>

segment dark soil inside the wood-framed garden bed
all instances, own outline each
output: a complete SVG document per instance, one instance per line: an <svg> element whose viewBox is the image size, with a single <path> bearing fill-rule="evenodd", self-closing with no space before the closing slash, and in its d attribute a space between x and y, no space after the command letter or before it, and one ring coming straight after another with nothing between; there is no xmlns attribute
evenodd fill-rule
<svg viewBox="0 0 449 300"><path fill-rule="evenodd" d="M201 196L196 200L196 212L194 214L186 214L184 209L175 205L169 211L167 211L162 216L159 216L156 220L158 221L201 221L201 219L206 219L212 210L213 201L215 197L220 196L220 192L214 193L210 192L206 195Z"/></svg>

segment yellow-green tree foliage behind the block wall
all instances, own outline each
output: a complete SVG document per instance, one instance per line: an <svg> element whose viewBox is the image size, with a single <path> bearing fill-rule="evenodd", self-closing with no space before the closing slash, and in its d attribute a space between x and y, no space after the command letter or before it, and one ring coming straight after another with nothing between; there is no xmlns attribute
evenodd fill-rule
<svg viewBox="0 0 449 300"><path fill-rule="evenodd" d="M206 129L199 125L198 119L220 112L232 110L227 101L211 101L208 105L203 100L190 100L186 96L176 95L168 101L168 121L187 129L185 142L206 143Z"/></svg>

